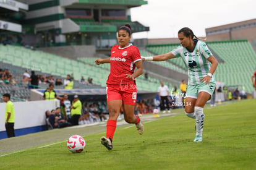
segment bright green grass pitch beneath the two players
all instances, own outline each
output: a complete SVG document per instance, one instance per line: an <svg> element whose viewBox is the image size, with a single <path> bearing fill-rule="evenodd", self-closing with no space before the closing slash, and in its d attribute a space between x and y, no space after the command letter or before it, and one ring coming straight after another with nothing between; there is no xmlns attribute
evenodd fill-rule
<svg viewBox="0 0 256 170"><path fill-rule="evenodd" d="M61 142L2 156L0 169L256 169L255 104L205 109L200 143L193 142L194 120L180 114L145 123L143 135L131 125L117 127L111 151L100 144L104 134L94 134L84 137L82 153L70 153Z"/></svg>

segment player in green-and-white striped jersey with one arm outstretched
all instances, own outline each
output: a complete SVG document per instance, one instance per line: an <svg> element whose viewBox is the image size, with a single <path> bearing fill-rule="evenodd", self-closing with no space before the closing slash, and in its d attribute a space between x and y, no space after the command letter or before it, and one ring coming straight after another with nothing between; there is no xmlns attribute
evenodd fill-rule
<svg viewBox="0 0 256 170"><path fill-rule="evenodd" d="M194 35L190 28L184 27L178 32L181 46L170 53L153 57L143 57L143 61L166 61L182 57L186 64L189 82L186 91L185 112L188 117L195 119L196 134L194 142L203 140L204 117L203 107L209 100L216 87L213 74L218 66L207 45Z"/></svg>

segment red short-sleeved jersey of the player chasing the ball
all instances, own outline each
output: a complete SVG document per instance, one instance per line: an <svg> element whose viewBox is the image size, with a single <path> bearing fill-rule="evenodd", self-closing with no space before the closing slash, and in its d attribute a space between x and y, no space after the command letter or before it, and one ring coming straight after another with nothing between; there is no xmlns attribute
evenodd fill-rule
<svg viewBox="0 0 256 170"><path fill-rule="evenodd" d="M141 60L140 51L136 46L130 44L119 48L119 45L114 45L111 48L110 74L106 83L108 85L134 84L134 81L126 78L126 74L133 74L134 63Z"/></svg>

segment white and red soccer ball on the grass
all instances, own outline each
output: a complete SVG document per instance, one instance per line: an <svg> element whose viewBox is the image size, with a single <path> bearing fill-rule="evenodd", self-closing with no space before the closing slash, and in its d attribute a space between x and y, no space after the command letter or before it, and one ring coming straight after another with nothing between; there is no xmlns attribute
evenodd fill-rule
<svg viewBox="0 0 256 170"><path fill-rule="evenodd" d="M72 135L67 141L67 148L72 153L80 153L85 148L85 140L80 135Z"/></svg>

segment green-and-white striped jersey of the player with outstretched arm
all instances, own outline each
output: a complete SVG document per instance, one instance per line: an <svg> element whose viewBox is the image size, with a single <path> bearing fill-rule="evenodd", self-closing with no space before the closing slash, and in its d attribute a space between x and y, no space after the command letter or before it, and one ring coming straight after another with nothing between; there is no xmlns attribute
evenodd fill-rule
<svg viewBox="0 0 256 170"><path fill-rule="evenodd" d="M176 57L182 57L184 63L187 66L187 73L189 75L188 85L200 84L203 77L205 77L210 68L210 62L207 60L208 57L212 56L211 51L207 45L200 40L195 41L195 48L193 51L189 51L183 46L178 46L173 49L171 53ZM211 78L211 82L215 82L214 77Z"/></svg>

